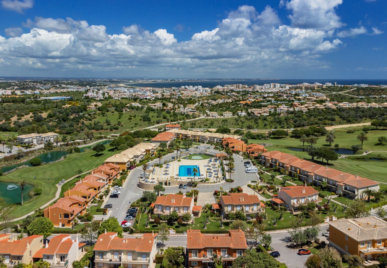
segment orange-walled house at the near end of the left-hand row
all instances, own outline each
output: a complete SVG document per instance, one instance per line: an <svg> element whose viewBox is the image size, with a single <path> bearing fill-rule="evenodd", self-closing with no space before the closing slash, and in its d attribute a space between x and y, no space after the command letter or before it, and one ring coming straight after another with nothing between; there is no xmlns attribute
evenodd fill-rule
<svg viewBox="0 0 387 268"><path fill-rule="evenodd" d="M72 227L78 215L86 213L86 199L70 195L60 198L52 206L44 210L44 216L49 218L54 227Z"/></svg>

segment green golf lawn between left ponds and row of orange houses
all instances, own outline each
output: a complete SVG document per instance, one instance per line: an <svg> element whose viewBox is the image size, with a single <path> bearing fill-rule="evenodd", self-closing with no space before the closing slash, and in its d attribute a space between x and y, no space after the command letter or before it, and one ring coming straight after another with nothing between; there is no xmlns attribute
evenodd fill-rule
<svg viewBox="0 0 387 268"><path fill-rule="evenodd" d="M27 167L16 170L11 174L1 177L3 182L18 182L21 179L27 180L29 184L33 184L34 187L41 187L43 194L25 202L23 206L15 206L12 210L12 215L15 218L25 215L30 211L34 211L48 200L52 199L57 192L57 184L62 179L69 179L77 175L77 170L82 171L91 170L92 168L98 167L103 164L103 161L114 154L113 149L106 146L107 149L97 156L94 151L86 151L84 153L73 153L68 155L63 161L43 165L39 167ZM36 180L34 180L36 176ZM52 177L54 179L52 179ZM49 179L49 180L48 180ZM72 185L70 182L69 185ZM62 186L61 197L63 192L68 189L68 185Z"/></svg>

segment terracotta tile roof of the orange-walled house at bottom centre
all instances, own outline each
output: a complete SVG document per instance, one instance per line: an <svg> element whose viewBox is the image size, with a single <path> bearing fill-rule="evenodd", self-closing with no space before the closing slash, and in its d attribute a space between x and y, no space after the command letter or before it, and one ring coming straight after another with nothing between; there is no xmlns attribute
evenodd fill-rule
<svg viewBox="0 0 387 268"><path fill-rule="evenodd" d="M204 247L230 247L247 249L245 233L241 230L228 230L228 234L205 235L200 230L187 230L187 248L202 249Z"/></svg>

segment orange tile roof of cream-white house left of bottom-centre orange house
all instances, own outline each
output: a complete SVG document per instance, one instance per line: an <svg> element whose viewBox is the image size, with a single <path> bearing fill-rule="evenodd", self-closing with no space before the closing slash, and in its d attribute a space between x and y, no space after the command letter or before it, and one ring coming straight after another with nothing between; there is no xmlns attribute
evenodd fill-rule
<svg viewBox="0 0 387 268"><path fill-rule="evenodd" d="M151 252L154 239L158 234L144 234L139 238L119 238L117 233L106 233L99 235L94 246L94 251L110 249L132 250L137 252Z"/></svg>

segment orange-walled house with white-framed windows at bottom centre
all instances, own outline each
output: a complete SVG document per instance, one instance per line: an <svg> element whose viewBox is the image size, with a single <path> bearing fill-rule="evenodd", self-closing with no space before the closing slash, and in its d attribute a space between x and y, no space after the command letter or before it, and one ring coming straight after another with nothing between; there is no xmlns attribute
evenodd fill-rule
<svg viewBox="0 0 387 268"><path fill-rule="evenodd" d="M188 266L213 266L212 254L222 256L223 264L231 266L233 260L247 249L245 233L228 230L228 234L205 235L200 230L187 230ZM211 267L210 266L210 267Z"/></svg>

